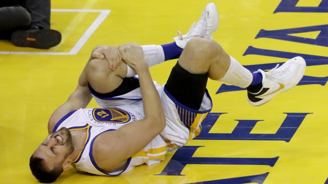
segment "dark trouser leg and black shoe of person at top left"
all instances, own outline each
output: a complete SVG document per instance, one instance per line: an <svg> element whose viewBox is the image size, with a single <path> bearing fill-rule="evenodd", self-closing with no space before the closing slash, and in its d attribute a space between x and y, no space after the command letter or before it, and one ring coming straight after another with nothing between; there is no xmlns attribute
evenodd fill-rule
<svg viewBox="0 0 328 184"><path fill-rule="evenodd" d="M47 49L58 45L61 38L60 32L50 30L50 0L0 1L0 39Z"/></svg>

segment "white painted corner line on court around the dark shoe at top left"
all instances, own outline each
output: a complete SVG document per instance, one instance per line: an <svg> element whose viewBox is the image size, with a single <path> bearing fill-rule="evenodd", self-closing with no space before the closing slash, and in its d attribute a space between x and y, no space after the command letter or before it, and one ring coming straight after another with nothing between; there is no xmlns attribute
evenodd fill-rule
<svg viewBox="0 0 328 184"><path fill-rule="evenodd" d="M88 41L94 31L100 26L105 18L110 15L111 10L87 10L87 9L51 9L51 12L99 12L99 16L93 21L81 38L76 42L69 52L11 52L0 51L0 54L27 54L27 55L76 55L83 45Z"/></svg>

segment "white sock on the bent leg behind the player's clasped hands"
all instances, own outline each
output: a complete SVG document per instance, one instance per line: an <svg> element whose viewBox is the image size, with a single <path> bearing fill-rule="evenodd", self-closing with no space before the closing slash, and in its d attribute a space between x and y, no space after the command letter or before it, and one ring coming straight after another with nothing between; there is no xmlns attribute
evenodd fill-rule
<svg viewBox="0 0 328 184"><path fill-rule="evenodd" d="M148 64L148 67L165 61L164 51L160 45L142 45L141 47L145 55L145 60ZM127 65L127 67L128 70L126 77L132 77L137 74L137 72L134 71L134 69L129 65Z"/></svg>

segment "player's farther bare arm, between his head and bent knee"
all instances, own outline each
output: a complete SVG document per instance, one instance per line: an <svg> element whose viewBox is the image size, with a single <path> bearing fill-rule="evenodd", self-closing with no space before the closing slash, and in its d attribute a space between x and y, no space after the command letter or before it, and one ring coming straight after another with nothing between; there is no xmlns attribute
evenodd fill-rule
<svg viewBox="0 0 328 184"><path fill-rule="evenodd" d="M91 59L92 57L90 57L89 61ZM68 100L63 105L58 107L52 113L48 122L48 133L52 132L52 129L56 125L56 123L67 113L80 108L85 108L91 101L92 96L89 93L88 82L86 78L86 66L84 67L79 77L78 85L75 91L70 95Z"/></svg>

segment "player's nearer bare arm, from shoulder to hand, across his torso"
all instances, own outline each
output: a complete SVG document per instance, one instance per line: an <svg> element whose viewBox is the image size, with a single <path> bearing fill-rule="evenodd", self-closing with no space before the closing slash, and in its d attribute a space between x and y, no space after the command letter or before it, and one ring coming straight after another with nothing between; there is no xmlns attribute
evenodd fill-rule
<svg viewBox="0 0 328 184"><path fill-rule="evenodd" d="M97 165L106 171L123 169L126 160L145 147L166 125L160 98L141 47L130 45L119 47L119 50L123 60L139 75L145 118L116 131L104 132L96 138L92 154Z"/></svg>

